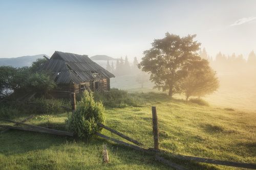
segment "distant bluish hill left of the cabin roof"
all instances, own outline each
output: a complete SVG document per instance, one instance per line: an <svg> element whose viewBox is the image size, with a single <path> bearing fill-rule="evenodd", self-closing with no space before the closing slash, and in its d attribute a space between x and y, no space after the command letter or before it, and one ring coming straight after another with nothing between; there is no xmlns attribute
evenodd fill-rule
<svg viewBox="0 0 256 170"><path fill-rule="evenodd" d="M23 57L16 57L16 58L0 58L0 66L2 65L10 65L13 67L31 66L32 62L36 61L36 59L38 58L42 58L42 56L44 55L45 54L39 54L35 56L23 56Z"/></svg>

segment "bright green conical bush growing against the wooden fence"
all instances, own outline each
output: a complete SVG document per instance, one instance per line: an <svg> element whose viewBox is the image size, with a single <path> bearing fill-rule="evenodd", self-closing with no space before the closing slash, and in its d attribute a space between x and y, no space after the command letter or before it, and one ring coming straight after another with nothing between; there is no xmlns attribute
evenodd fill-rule
<svg viewBox="0 0 256 170"><path fill-rule="evenodd" d="M97 123L103 123L104 107L101 102L95 102L93 92L84 91L76 110L67 119L67 128L79 138L91 138L101 130Z"/></svg>

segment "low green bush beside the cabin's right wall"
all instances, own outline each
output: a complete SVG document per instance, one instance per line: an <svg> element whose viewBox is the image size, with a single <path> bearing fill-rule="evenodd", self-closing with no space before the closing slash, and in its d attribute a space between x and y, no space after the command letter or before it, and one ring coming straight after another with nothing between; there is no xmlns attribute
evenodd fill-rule
<svg viewBox="0 0 256 170"><path fill-rule="evenodd" d="M96 101L101 101L105 107L112 108L137 107L140 101L136 94L116 88L112 88L108 92L95 92L94 98Z"/></svg>

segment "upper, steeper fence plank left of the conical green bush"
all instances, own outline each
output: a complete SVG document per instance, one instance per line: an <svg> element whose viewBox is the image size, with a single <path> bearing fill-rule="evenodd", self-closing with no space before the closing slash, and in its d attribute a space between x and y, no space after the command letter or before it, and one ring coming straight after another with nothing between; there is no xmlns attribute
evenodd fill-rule
<svg viewBox="0 0 256 170"><path fill-rule="evenodd" d="M29 125L29 124L24 124L24 123L19 123L19 122L15 122L13 120L8 120L5 118L1 118L1 120L5 120L6 122L10 122L10 123L15 123L17 125L24 125L26 127L32 128L32 129L37 129L37 130L43 130L43 131L48 131L48 132L52 132L58 135L68 135L68 136L73 136L72 132L65 132L65 131L59 131L59 130L55 130L55 129L48 129L48 128L44 128L44 127L39 127L39 126L34 126L34 125Z"/></svg>

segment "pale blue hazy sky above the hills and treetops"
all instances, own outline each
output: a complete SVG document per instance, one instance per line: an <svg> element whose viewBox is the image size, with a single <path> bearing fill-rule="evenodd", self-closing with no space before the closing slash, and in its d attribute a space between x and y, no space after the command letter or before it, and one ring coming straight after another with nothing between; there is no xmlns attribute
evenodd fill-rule
<svg viewBox="0 0 256 170"><path fill-rule="evenodd" d="M197 34L215 56L256 52L256 1L2 1L0 58L47 54L141 58L166 32Z"/></svg>

